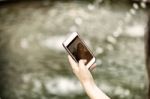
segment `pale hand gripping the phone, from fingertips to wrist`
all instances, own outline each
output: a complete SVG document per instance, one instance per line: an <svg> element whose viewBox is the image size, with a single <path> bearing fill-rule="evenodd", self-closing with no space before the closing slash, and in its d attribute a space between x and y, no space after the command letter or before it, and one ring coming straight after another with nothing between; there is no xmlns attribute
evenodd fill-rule
<svg viewBox="0 0 150 99"><path fill-rule="evenodd" d="M93 84L94 79L88 70L88 68L85 66L86 60L82 59L79 61L79 63L76 63L71 56L68 55L69 62L71 64L71 67L73 69L74 74L77 76L77 78L80 80L80 82L84 85L87 83ZM95 68L96 65L91 66L91 70Z"/></svg>

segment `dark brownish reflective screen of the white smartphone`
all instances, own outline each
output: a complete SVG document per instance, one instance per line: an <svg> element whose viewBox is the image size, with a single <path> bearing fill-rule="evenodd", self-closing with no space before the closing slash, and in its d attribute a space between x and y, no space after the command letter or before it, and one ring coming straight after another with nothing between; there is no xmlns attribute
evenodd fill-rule
<svg viewBox="0 0 150 99"><path fill-rule="evenodd" d="M79 62L80 59L86 59L87 63L93 58L93 55L77 36L72 40L72 42L67 46L68 50L72 53L73 57Z"/></svg>

